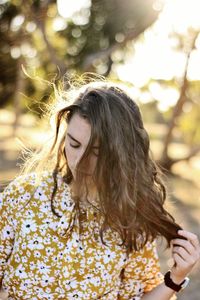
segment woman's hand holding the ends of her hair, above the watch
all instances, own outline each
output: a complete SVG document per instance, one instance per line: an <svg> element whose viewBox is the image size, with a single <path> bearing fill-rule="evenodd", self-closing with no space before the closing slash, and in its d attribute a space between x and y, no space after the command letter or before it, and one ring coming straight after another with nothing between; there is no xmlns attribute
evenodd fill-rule
<svg viewBox="0 0 200 300"><path fill-rule="evenodd" d="M174 266L171 268L171 279L180 284L190 273L200 258L200 243L198 237L188 231L179 230L178 234L186 238L176 238L171 241Z"/></svg>

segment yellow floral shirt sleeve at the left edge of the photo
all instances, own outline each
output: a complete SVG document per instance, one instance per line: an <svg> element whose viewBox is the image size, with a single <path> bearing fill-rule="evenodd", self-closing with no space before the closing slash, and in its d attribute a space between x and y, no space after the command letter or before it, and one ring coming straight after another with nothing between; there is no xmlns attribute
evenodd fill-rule
<svg viewBox="0 0 200 300"><path fill-rule="evenodd" d="M6 263L12 253L15 239L15 214L21 204L30 199L27 185L31 184L33 176L18 176L2 193L0 193L0 286ZM33 183L33 182L32 182Z"/></svg>

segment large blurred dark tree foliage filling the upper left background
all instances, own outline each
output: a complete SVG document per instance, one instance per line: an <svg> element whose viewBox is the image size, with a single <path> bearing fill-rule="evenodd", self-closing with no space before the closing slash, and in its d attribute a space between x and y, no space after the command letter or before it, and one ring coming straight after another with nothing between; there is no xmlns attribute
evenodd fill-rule
<svg viewBox="0 0 200 300"><path fill-rule="evenodd" d="M26 101L23 95L17 96L19 91L29 100L42 100L48 93L47 87L21 74L22 63L47 80L71 71L108 75L115 63L112 53L116 49L125 53L128 42L157 19L156 2L92 0L87 8L64 18L55 0L1 1L0 106L15 103L23 109Z"/></svg>

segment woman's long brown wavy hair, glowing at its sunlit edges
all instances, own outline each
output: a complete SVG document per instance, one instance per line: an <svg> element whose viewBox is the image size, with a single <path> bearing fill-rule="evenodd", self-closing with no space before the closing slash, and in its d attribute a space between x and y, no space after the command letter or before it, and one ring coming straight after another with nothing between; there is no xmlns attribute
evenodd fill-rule
<svg viewBox="0 0 200 300"><path fill-rule="evenodd" d="M177 231L181 227L164 208L166 188L160 168L150 157L149 136L139 107L125 90L114 84L84 85L76 91L72 103L65 101L56 113L55 138L46 155L46 161L51 161L54 177L51 196L54 214L60 217L53 205L58 173L67 184L73 180L65 154L65 135L67 124L75 113L91 125L90 141L77 170L87 164L92 145L99 141L99 155L92 179L104 217L100 230L102 242L104 231L110 227L119 232L122 244L130 251L138 250L158 236L165 237L169 246L170 241L178 237ZM61 125L64 125L64 130L59 138ZM40 160L44 165L42 155ZM80 187L85 184L86 175L83 172L78 174L76 185ZM76 197L75 201L79 209L79 198ZM139 236L143 237L140 243Z"/></svg>

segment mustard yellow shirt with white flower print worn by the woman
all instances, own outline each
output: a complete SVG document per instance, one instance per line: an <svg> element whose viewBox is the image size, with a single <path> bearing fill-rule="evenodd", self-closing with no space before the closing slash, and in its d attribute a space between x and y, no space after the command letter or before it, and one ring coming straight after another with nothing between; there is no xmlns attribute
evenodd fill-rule
<svg viewBox="0 0 200 300"><path fill-rule="evenodd" d="M116 232L107 230L102 244L95 207L81 208L79 226L61 175L54 198L60 218L51 210L52 174L44 172L38 185L36 176L18 176L0 196L0 280L8 299L139 300L163 281L155 242L127 259Z"/></svg>

